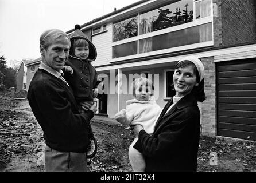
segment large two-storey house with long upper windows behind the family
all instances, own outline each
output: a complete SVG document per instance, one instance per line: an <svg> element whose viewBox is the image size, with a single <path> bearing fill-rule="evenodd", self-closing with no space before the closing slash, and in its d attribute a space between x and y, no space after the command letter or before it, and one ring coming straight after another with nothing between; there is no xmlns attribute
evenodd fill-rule
<svg viewBox="0 0 256 183"><path fill-rule="evenodd" d="M99 114L113 118L124 109L140 75L153 80L164 107L173 96L174 65L195 55L205 67L203 134L256 140L255 1L142 0L84 23L82 31L96 46L92 65L104 78Z"/></svg>

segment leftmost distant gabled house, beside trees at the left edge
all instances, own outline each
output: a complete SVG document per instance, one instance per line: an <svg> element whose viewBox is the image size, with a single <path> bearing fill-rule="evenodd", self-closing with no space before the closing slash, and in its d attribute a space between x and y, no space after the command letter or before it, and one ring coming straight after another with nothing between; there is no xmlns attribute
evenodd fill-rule
<svg viewBox="0 0 256 183"><path fill-rule="evenodd" d="M32 62L31 60L22 59L20 66L16 71L16 92L20 90L28 91L28 86L26 85L28 69L26 64Z"/></svg>

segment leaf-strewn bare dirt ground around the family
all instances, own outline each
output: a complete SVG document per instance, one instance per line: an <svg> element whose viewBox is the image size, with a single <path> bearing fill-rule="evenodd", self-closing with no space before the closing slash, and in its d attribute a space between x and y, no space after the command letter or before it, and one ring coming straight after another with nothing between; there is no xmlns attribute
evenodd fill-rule
<svg viewBox="0 0 256 183"><path fill-rule="evenodd" d="M92 172L130 172L128 149L133 134L126 126L92 119L98 152ZM15 134L10 134L15 133ZM0 93L0 172L44 171L44 138L27 100ZM256 172L256 142L200 137L199 172Z"/></svg>

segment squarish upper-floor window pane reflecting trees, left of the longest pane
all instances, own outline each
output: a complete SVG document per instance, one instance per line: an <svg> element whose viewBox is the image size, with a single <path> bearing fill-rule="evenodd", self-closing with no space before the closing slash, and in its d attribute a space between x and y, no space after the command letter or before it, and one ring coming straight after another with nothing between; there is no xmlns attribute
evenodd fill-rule
<svg viewBox="0 0 256 183"><path fill-rule="evenodd" d="M135 37L138 35L138 16L113 24L113 41Z"/></svg>

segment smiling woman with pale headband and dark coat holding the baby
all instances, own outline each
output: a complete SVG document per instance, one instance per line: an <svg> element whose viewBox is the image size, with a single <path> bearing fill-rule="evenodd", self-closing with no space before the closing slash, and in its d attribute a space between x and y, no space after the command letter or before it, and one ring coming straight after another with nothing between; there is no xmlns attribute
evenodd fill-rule
<svg viewBox="0 0 256 183"><path fill-rule="evenodd" d="M150 136L134 126L133 146L145 156L146 171L196 171L200 134L197 101L205 100L204 66L196 57L181 59L173 74L176 96L162 110Z"/></svg>

